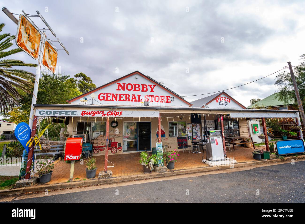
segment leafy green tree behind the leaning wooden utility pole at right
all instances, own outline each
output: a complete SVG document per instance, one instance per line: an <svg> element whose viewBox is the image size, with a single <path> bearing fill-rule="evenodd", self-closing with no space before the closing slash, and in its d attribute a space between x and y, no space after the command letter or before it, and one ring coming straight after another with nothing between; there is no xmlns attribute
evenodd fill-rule
<svg viewBox="0 0 305 224"><path fill-rule="evenodd" d="M302 104L305 105L305 54L300 56L301 62L298 66L294 67L293 71L296 76L296 84L298 86L298 90L300 93L300 98L302 100ZM294 105L297 109L297 100L296 100L296 94L294 92L292 80L290 73L287 71L284 71L282 73L279 73L276 76L275 85L277 85L278 91L276 91L276 98L283 101L285 104L289 103L289 100L294 99Z"/></svg>

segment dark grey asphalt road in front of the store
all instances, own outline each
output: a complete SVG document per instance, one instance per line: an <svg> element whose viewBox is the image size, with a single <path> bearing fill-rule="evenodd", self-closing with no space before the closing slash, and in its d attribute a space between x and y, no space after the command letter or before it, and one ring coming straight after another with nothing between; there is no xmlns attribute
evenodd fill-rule
<svg viewBox="0 0 305 224"><path fill-rule="evenodd" d="M305 161L265 166L240 172L156 181L122 187L60 194L14 203L304 203ZM257 195L259 190L259 195ZM187 195L187 192L189 194ZM118 195L116 195L116 193Z"/></svg>

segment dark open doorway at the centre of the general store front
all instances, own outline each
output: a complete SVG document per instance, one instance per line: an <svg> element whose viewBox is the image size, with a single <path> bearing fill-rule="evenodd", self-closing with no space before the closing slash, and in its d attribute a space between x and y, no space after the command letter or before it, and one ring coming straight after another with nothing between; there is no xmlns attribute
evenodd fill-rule
<svg viewBox="0 0 305 224"><path fill-rule="evenodd" d="M138 151L151 151L150 122L138 122Z"/></svg>

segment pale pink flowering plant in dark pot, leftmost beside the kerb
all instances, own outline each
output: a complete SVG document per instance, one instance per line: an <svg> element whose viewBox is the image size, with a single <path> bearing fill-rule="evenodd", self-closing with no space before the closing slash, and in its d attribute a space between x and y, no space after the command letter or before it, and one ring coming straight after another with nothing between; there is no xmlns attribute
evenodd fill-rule
<svg viewBox="0 0 305 224"><path fill-rule="evenodd" d="M41 159L35 161L34 167L36 168L34 173L38 174L39 183L48 183L51 180L53 172L52 169L54 169L53 159Z"/></svg>

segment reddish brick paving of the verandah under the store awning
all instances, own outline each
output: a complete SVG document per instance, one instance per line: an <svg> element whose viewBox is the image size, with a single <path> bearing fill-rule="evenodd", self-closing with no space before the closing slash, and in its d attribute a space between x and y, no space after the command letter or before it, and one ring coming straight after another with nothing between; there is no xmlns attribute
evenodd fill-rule
<svg viewBox="0 0 305 224"><path fill-rule="evenodd" d="M227 157L234 158L237 162L255 161L251 154L252 151L253 148L244 148L237 146L235 147L235 151L233 151L233 148L231 152L227 150ZM143 168L142 165L139 163L139 159L140 159L139 154L140 152L124 153L120 155L110 154L108 156L108 160L114 163L114 167L108 169L112 170L114 177L142 174ZM188 153L188 151L185 152L179 151L179 155L180 156L178 157L178 162L175 162L174 170L208 166L203 162L201 162L202 160L201 153L192 154L192 151L190 151L190 153ZM204 153L204 159L205 158L206 158L206 153ZM98 167L96 171L96 178L98 176L98 173L104 170L104 161L105 161L105 157L103 155L96 156L96 162ZM108 164L108 165L112 165L112 164ZM75 178L76 180L86 179L85 168L86 168L85 162L84 165L81 165L79 161L75 162L74 177L72 181L75 181ZM52 179L47 184L67 182L69 180L69 175L70 175L70 163L66 163L64 161L56 161L52 173Z"/></svg>

